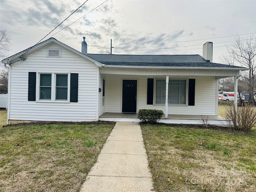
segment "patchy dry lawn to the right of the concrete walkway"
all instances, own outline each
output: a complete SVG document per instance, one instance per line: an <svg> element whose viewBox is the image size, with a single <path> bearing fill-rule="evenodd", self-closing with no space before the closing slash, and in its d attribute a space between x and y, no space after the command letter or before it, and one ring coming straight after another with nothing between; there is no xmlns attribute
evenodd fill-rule
<svg viewBox="0 0 256 192"><path fill-rule="evenodd" d="M256 191L256 129L142 125L156 192Z"/></svg>

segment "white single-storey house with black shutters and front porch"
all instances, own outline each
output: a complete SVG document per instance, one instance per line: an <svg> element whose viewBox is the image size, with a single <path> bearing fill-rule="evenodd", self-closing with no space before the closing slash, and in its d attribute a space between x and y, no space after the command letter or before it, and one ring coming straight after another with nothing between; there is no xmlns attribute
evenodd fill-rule
<svg viewBox="0 0 256 192"><path fill-rule="evenodd" d="M218 80L247 70L213 63L212 42L203 57L114 55L87 54L85 40L79 52L50 38L2 62L9 68L9 124L136 121L145 108L163 110L162 122L220 120Z"/></svg>

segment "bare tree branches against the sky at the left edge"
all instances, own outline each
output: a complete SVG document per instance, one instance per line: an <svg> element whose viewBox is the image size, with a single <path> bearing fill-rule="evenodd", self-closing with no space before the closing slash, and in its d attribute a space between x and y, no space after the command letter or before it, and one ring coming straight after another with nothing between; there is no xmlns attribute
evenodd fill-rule
<svg viewBox="0 0 256 192"><path fill-rule="evenodd" d="M11 37L8 35L5 29L0 29L0 59L4 59L6 57L6 52L10 50L11 45Z"/></svg>

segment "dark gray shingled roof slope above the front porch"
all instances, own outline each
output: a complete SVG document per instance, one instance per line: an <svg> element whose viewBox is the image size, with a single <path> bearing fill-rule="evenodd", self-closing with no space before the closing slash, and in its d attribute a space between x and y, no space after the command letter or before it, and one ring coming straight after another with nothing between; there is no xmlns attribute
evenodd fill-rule
<svg viewBox="0 0 256 192"><path fill-rule="evenodd" d="M116 66L240 68L238 66L208 62L200 55L87 54L87 56L102 64Z"/></svg>

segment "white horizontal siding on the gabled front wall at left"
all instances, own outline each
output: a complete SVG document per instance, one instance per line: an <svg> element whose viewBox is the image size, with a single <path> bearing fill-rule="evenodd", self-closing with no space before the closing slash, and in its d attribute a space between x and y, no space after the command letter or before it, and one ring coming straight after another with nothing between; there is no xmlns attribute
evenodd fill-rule
<svg viewBox="0 0 256 192"><path fill-rule="evenodd" d="M62 57L46 57L46 47L62 48ZM58 44L46 47L28 54L25 61L11 65L9 120L95 121L98 67ZM78 73L78 102L28 101L28 72Z"/></svg>

